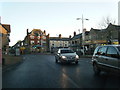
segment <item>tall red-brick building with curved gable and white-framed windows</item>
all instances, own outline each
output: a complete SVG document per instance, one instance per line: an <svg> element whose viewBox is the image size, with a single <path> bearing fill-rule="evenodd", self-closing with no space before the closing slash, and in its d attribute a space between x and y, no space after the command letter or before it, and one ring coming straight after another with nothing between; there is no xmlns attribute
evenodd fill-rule
<svg viewBox="0 0 120 90"><path fill-rule="evenodd" d="M23 40L23 46L27 52L46 52L46 31L33 29L31 32L27 29L27 36Z"/></svg>

